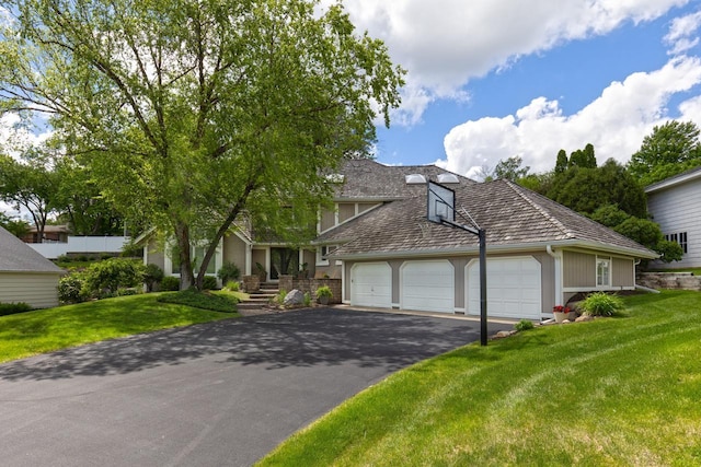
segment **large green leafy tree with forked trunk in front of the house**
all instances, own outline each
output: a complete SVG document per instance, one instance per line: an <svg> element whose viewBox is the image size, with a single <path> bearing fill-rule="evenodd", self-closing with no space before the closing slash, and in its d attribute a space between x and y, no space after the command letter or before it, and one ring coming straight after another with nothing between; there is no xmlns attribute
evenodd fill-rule
<svg viewBox="0 0 701 467"><path fill-rule="evenodd" d="M363 155L403 71L313 0L2 0L5 110L44 112L128 217L174 238L202 288L244 211L280 235ZM197 245L203 241L204 244ZM193 275L193 247L205 247Z"/></svg>

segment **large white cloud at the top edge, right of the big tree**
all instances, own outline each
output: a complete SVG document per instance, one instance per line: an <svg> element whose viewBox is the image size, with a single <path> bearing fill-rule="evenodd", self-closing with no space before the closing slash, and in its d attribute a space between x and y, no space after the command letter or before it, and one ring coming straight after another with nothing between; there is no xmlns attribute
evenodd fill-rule
<svg viewBox="0 0 701 467"><path fill-rule="evenodd" d="M324 0L329 4L333 0ZM467 98L472 78L563 42L652 21L688 0L343 0L359 30L386 42L409 70L403 125L438 98ZM680 26L681 27L681 26ZM397 120L395 120L397 121Z"/></svg>

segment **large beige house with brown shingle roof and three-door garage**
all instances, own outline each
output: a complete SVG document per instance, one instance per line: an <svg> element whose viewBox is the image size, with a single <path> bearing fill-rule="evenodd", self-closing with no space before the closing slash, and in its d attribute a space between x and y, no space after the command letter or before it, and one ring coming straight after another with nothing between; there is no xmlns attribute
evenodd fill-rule
<svg viewBox="0 0 701 467"><path fill-rule="evenodd" d="M657 256L509 182L478 184L434 165L363 160L329 176L335 209L320 214L308 248L238 232L220 243L211 272L233 261L242 273L255 273L260 262L274 281L307 264L315 277L342 279L344 303L476 315L478 240L426 220L428 179L453 189L456 206L486 230L490 316L541 319L578 292L632 290L636 261ZM176 272L153 242L145 258Z"/></svg>

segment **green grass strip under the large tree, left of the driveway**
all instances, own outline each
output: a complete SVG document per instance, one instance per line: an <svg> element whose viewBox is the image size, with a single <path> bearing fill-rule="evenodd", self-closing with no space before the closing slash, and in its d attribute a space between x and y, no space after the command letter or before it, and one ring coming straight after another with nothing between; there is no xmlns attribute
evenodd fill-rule
<svg viewBox="0 0 701 467"><path fill-rule="evenodd" d="M116 337L232 317L231 313L158 303L159 295L122 296L2 316L0 362Z"/></svg>

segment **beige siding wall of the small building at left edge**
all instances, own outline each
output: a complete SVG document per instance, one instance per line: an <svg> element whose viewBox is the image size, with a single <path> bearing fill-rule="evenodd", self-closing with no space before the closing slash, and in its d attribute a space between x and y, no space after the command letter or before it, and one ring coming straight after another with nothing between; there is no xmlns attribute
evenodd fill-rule
<svg viewBox="0 0 701 467"><path fill-rule="evenodd" d="M34 308L58 306L59 275L0 272L0 302L25 302Z"/></svg>

